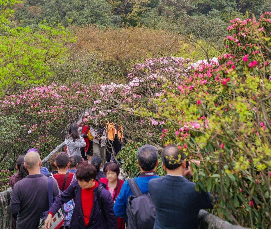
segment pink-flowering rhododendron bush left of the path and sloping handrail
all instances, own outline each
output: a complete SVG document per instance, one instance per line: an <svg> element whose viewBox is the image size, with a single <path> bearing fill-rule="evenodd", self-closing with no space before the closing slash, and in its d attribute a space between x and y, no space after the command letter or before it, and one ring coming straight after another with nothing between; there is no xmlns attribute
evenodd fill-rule
<svg viewBox="0 0 271 229"><path fill-rule="evenodd" d="M80 84L54 84L5 97L0 103L0 163L16 161L29 148L46 156L63 141L70 123L81 117L78 106L91 99L90 93Z"/></svg>

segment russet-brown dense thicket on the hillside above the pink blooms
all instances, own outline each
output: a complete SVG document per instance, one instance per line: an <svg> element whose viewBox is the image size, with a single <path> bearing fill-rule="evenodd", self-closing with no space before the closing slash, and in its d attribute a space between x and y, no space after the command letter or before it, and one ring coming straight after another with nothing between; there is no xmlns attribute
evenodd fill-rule
<svg viewBox="0 0 271 229"><path fill-rule="evenodd" d="M98 52L109 64L130 65L144 58L176 55L181 49L176 35L163 30L143 27L101 30L92 26L74 27L73 31L78 37L75 50Z"/></svg>

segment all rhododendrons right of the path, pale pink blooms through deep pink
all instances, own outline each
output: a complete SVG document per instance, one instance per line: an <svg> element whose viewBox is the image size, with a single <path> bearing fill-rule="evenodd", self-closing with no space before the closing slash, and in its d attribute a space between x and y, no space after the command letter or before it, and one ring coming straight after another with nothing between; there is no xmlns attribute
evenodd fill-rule
<svg viewBox="0 0 271 229"><path fill-rule="evenodd" d="M227 54L210 64L161 58L135 65L128 84L102 87L92 116L122 125L127 139L159 149L176 144L200 160L191 164L196 189L219 195L215 214L250 228L271 227L270 22L268 12L231 21Z"/></svg>

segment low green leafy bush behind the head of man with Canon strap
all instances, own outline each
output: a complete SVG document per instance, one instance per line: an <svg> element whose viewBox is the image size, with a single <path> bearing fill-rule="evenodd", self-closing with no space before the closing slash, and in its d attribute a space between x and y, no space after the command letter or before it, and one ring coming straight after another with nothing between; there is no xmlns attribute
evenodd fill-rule
<svg viewBox="0 0 271 229"><path fill-rule="evenodd" d="M132 140L128 141L121 151L118 153L118 157L123 159L122 171L126 173L129 178L134 178L140 174L140 169L137 163L137 151L138 149L145 145L146 142L133 142ZM156 169L156 173L159 176L164 176L165 171L162 167L161 157L159 155L159 165Z"/></svg>

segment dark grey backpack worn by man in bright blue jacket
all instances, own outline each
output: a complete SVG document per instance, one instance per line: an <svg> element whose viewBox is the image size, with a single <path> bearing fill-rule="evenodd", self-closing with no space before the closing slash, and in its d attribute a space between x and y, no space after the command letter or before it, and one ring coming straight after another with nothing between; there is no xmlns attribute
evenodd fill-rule
<svg viewBox="0 0 271 229"><path fill-rule="evenodd" d="M134 178L128 184L134 194L128 197L128 229L153 229L156 214L150 194L142 194Z"/></svg>

